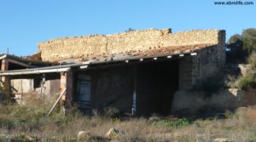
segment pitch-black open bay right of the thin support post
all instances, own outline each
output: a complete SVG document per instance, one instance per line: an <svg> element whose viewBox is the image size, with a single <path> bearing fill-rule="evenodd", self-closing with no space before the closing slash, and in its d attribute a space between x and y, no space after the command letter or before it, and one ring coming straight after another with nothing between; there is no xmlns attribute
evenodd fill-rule
<svg viewBox="0 0 256 142"><path fill-rule="evenodd" d="M137 65L137 115L169 115L178 89L178 60Z"/></svg>

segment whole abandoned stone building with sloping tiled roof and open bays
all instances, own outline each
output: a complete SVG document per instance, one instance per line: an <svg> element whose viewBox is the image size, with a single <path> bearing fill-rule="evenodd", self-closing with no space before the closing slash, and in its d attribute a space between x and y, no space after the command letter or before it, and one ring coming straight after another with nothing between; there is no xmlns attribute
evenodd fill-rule
<svg viewBox="0 0 256 142"><path fill-rule="evenodd" d="M171 29L57 38L26 58L0 57L2 83L20 98L63 92L82 111L113 107L136 115L170 114L175 94L225 63L225 31Z"/></svg>

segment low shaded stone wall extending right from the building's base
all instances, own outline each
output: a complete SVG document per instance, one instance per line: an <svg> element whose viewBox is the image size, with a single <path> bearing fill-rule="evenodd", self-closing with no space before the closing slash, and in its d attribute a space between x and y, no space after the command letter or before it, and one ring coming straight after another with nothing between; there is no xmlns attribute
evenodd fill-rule
<svg viewBox="0 0 256 142"><path fill-rule="evenodd" d="M256 101L251 101L252 95L238 88L221 89L208 97L200 91L177 91L172 100L172 113L186 111L195 114L207 107L223 111L234 110L241 106L255 105Z"/></svg>

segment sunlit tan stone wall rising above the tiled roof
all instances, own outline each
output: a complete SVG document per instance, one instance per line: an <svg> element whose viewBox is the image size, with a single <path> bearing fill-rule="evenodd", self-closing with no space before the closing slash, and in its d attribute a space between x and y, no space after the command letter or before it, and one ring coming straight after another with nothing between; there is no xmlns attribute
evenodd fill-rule
<svg viewBox="0 0 256 142"><path fill-rule="evenodd" d="M40 43L42 60L58 61L120 54L179 45L218 44L218 30L171 33L170 29L130 31L114 35L57 38Z"/></svg>

